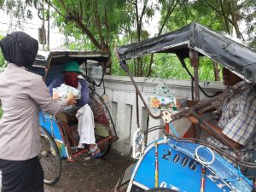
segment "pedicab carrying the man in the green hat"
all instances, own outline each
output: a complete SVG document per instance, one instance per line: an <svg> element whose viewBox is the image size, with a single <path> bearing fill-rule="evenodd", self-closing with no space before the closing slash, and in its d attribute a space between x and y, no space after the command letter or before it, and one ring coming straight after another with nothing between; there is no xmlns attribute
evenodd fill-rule
<svg viewBox="0 0 256 192"><path fill-rule="evenodd" d="M86 79L90 84L90 108L94 114L96 143L102 151L102 155L99 158L108 154L111 143L116 141L118 137L116 135L113 119L106 104L106 99L108 99L106 97L107 95L105 91L103 95L99 95L95 89L95 86L101 85L102 81L100 84L96 84L90 79L89 64L101 64L104 69L108 59L108 54L98 52L53 51L46 54L42 52L41 55L37 55L37 59L32 67L32 71L43 76L47 86L55 78L62 75L61 67L64 61L78 61L80 67L84 67L84 74L79 78ZM102 73L102 80L103 76L104 73ZM89 148L74 151L71 148L67 133L61 125L61 122L56 117L42 111L40 111L39 115L39 129L41 131L42 143L39 158L44 170L44 183L53 185L61 177L61 160L72 162L88 160L90 159ZM68 122L68 125L72 129L73 137L79 140L78 121Z"/></svg>

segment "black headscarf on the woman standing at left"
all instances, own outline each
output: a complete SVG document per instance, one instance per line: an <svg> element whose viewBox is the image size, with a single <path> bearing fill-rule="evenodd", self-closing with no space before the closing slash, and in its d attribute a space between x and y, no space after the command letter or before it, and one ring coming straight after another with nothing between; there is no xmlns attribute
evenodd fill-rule
<svg viewBox="0 0 256 192"><path fill-rule="evenodd" d="M38 41L25 32L12 32L0 41L3 57L17 66L31 68L38 53Z"/></svg>

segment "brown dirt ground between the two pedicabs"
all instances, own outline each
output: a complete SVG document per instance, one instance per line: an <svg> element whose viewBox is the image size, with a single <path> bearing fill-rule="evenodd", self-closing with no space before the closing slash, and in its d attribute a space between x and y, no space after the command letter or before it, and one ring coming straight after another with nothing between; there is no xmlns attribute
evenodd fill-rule
<svg viewBox="0 0 256 192"><path fill-rule="evenodd" d="M62 161L61 179L54 186L44 185L47 192L113 192L125 169L126 158L113 149L103 159L84 162Z"/></svg>

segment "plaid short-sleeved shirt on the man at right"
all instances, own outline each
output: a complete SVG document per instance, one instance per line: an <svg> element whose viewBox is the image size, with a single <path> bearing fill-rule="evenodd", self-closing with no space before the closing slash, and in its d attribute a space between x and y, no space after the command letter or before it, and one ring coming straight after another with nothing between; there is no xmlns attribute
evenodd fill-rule
<svg viewBox="0 0 256 192"><path fill-rule="evenodd" d="M218 127L223 129L225 136L241 144L239 149L242 160L249 161L256 143L256 90L244 90L224 99L222 116L218 120ZM213 137L207 141L224 148L227 153L233 154L224 143Z"/></svg>

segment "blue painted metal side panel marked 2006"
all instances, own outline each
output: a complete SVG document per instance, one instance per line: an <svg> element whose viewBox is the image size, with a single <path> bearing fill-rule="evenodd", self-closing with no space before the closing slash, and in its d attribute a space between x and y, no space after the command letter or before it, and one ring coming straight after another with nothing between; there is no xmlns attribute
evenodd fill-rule
<svg viewBox="0 0 256 192"><path fill-rule="evenodd" d="M159 183L169 189L199 192L201 189L201 164L195 160L195 143L158 142ZM198 151L202 160L212 160L212 154L206 149ZM220 155L215 153L215 160L206 166L205 192L218 191L252 191L252 181L242 178L241 173ZM132 184L140 183L144 189L154 189L154 143L145 151L144 157L137 162L131 177ZM231 181L229 183L225 181ZM131 184L130 184L131 185ZM128 192L133 192L128 187Z"/></svg>

